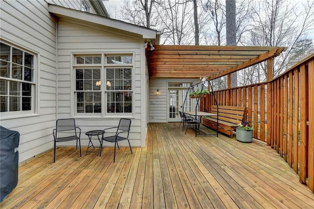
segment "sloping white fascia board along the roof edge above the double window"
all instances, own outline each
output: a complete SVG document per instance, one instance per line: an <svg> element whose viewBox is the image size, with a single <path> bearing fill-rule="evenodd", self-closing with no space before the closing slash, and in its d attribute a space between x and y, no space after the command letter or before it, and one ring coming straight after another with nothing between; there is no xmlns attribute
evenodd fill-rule
<svg viewBox="0 0 314 209"><path fill-rule="evenodd" d="M69 9L53 4L49 4L48 8L49 12L59 17L77 19L79 21L90 22L92 24L97 24L100 26L112 27L115 29L141 35L144 39L156 39L158 32L157 30L136 26L119 20L109 19L99 15L94 15L87 12Z"/></svg>

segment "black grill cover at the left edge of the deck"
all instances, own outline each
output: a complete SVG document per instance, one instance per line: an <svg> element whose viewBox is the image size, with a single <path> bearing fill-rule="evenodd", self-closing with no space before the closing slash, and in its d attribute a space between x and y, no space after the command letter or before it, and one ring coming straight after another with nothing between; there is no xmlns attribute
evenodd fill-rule
<svg viewBox="0 0 314 209"><path fill-rule="evenodd" d="M0 126L0 202L18 184L20 133Z"/></svg>

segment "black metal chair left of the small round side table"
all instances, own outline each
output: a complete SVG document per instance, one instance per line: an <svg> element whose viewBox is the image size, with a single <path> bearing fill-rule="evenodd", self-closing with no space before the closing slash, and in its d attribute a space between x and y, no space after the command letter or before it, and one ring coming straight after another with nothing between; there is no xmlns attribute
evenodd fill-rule
<svg viewBox="0 0 314 209"><path fill-rule="evenodd" d="M52 134L54 138L53 162L55 162L56 142L77 140L77 149L79 143L79 157L82 157L80 150L80 128L76 127L74 118L56 120L56 126Z"/></svg>

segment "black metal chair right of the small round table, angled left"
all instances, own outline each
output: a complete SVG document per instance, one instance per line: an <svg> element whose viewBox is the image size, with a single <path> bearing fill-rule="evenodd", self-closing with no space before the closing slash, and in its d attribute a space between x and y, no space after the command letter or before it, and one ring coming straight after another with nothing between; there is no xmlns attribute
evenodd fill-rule
<svg viewBox="0 0 314 209"><path fill-rule="evenodd" d="M116 158L116 146L118 146L118 149L120 149L118 145L118 141L128 140L131 154L132 154L131 144L129 141L130 127L131 127L131 120L127 118L121 118L119 122L119 126L104 129L105 133L107 133L107 130L109 129L117 129L114 135L104 137L104 134L103 134L102 145L101 145L101 147L103 147L103 141L114 142L113 162L115 161L115 158ZM100 156L102 156L102 150L100 151Z"/></svg>

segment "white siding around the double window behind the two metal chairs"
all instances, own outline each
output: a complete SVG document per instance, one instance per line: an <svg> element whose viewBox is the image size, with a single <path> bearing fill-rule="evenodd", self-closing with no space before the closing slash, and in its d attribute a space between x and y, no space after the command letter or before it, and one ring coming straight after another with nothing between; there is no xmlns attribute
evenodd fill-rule
<svg viewBox="0 0 314 209"><path fill-rule="evenodd" d="M86 25L59 20L58 22L58 98L57 98L57 117L71 117L74 108L74 102L71 103L71 53L85 52L121 52L135 53L134 73L133 73L133 110L134 118L131 118L131 146L141 146L141 140L145 141L142 132L145 127L141 127L141 121L146 120L145 106L142 107L141 101L146 100L146 95L141 93L145 88L145 80L141 77L145 75L145 69L141 66L141 57L145 52L143 40L124 36L123 34L112 33L102 28L95 28ZM145 92L145 91L144 91ZM145 111L144 111L145 110ZM144 111L144 113L143 113ZM92 118L75 117L77 125L81 128L81 144L86 146L88 138L85 132L91 130L103 130L112 126L117 126L120 117L113 118ZM96 143L96 140L94 140ZM127 143L127 142L126 142ZM65 143L63 143L65 144ZM62 145L63 145L62 144ZM69 144L73 144L69 142ZM97 143L96 143L97 144ZM61 144L60 144L61 145ZM112 146L113 144L105 145ZM121 142L121 145L127 145Z"/></svg>

